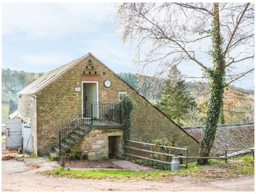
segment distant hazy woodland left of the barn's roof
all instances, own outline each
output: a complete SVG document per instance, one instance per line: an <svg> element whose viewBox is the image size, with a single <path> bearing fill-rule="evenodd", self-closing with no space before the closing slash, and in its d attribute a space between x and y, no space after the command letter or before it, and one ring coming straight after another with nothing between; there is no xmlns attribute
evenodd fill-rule
<svg viewBox="0 0 256 194"><path fill-rule="evenodd" d="M41 77L44 73L29 73L2 68L2 89L21 90Z"/></svg>

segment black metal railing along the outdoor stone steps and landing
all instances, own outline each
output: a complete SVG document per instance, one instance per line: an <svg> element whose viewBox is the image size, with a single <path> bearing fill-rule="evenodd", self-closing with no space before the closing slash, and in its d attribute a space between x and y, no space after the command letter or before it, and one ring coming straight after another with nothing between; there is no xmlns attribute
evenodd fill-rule
<svg viewBox="0 0 256 194"><path fill-rule="evenodd" d="M52 135L59 133L59 152L93 122L120 122L120 103L90 103Z"/></svg>

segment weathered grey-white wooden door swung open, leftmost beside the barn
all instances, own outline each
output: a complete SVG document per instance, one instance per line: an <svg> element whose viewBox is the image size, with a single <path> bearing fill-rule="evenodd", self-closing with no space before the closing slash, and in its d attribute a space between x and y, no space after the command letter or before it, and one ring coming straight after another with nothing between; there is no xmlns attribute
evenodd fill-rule
<svg viewBox="0 0 256 194"><path fill-rule="evenodd" d="M5 120L6 149L19 148L22 145L21 120Z"/></svg>

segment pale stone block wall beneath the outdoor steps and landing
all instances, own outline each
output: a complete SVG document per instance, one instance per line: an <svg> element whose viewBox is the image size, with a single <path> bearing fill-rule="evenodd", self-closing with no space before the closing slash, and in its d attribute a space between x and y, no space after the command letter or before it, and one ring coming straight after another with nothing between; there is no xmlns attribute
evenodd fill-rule
<svg viewBox="0 0 256 194"><path fill-rule="evenodd" d="M97 127L97 124L93 126L92 130L83 137L74 147L72 147L66 154L66 158L72 159L88 159L88 160L98 160L98 159L108 159L109 147L108 139L109 137L117 137L112 140L112 148L114 150L119 150L120 152L115 152L116 156L121 157L121 147L122 147L122 135L123 130L121 128L115 128L117 132L113 132L113 128ZM115 139L117 141L115 141ZM114 154L115 154L114 153Z"/></svg>

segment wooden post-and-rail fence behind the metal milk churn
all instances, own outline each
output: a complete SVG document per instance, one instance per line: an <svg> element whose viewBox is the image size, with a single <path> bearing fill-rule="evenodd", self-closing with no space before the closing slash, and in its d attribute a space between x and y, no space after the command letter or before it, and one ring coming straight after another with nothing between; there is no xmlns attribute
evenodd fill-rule
<svg viewBox="0 0 256 194"><path fill-rule="evenodd" d="M134 147L129 147L129 146L124 146L127 149L139 150L139 151L145 151L145 152L151 153L151 158L146 158L146 157L142 157L142 156L137 156L137 155L125 153L125 155L127 155L127 156L133 156L133 157L137 157L137 158L141 158L141 159L151 160L151 161L155 161L155 162L161 162L161 163L164 163L164 164L171 164L171 162L165 162L165 161L162 161L162 160L153 159L154 154L160 154L160 155L164 155L164 156L175 156L173 154L167 154L167 153L154 151L155 144L148 144L148 143L144 143L144 142L136 142L136 141L132 141L132 140L127 140L127 141L132 142L132 143L137 143L137 144L151 145L151 151L150 150L143 150L143 149L139 149L139 148L134 148ZM188 159L225 159L225 160L228 159L228 157L226 157L226 156L225 157L188 157L188 150L185 149L185 148L178 148L178 147L171 147L171 146L164 146L164 145L157 145L157 146L168 147L168 148L172 148L172 149L185 151L185 156L177 156L179 158L185 159L185 165L180 164L181 167L185 167L185 168L188 168ZM242 150L248 150L248 149L242 149ZM253 154L253 158L254 158L254 154Z"/></svg>

